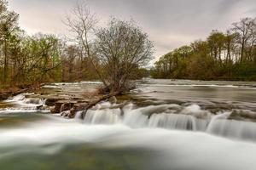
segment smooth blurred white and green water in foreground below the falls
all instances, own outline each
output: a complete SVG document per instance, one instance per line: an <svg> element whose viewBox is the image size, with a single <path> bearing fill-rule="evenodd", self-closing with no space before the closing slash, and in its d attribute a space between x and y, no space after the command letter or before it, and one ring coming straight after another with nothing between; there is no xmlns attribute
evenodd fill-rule
<svg viewBox="0 0 256 170"><path fill-rule="evenodd" d="M0 139L1 169L253 170L256 166L256 144L207 133L86 125L58 116L1 127Z"/></svg>

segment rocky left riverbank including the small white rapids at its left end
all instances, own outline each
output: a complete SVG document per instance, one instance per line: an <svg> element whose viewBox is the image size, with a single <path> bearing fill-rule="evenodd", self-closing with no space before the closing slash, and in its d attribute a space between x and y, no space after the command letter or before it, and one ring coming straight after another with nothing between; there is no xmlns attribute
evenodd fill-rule
<svg viewBox="0 0 256 170"><path fill-rule="evenodd" d="M11 109L11 105L25 105L26 110L50 111L73 118L76 112L86 111L102 100L116 100L112 95L100 94L101 87L101 82L52 83L2 94L0 100L10 101L5 102L8 106L3 105L2 110Z"/></svg>

